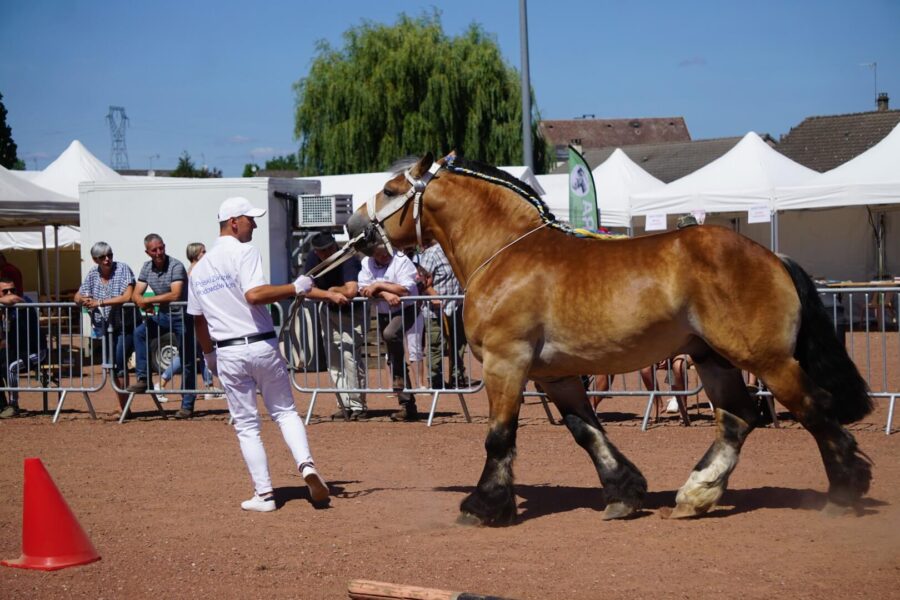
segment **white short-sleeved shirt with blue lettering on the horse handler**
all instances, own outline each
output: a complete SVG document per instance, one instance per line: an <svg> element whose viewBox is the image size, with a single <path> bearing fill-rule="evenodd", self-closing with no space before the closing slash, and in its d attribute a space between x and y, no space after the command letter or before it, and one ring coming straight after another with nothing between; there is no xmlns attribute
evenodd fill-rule
<svg viewBox="0 0 900 600"><path fill-rule="evenodd" d="M215 341L272 331L268 309L244 297L248 290L267 283L259 250L221 236L191 270L188 314L203 315Z"/></svg>

